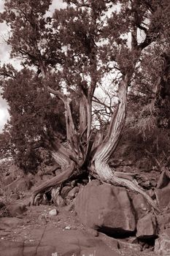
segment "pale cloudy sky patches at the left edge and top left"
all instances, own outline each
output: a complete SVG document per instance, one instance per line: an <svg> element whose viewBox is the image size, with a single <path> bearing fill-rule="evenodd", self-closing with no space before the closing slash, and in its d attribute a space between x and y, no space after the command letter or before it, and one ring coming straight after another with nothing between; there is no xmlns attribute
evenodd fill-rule
<svg viewBox="0 0 170 256"><path fill-rule="evenodd" d="M53 0L53 4L50 7L50 12L52 13L56 8L63 8L65 4L63 4L62 0ZM0 0L0 12L4 10L4 0ZM0 62L1 64L11 63L14 67L20 67L19 61L12 60L9 58L10 47L5 42L5 38L8 37L9 28L5 23L0 23ZM8 113L8 105L7 102L2 99L1 91L0 91L0 132L2 131L4 124L7 123L7 119L9 118Z"/></svg>

